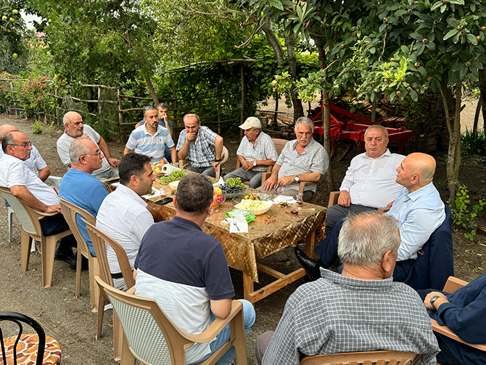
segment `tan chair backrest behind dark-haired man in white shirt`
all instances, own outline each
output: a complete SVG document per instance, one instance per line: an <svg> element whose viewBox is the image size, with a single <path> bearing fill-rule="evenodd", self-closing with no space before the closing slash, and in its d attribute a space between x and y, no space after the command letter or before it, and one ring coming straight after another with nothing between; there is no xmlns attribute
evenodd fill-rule
<svg viewBox="0 0 486 365"><path fill-rule="evenodd" d="M128 288L134 286L135 279L133 279L130 261L128 261L128 257L126 257L126 252L124 248L122 248L121 245L117 243L117 241L101 232L91 223L86 221L85 223L87 233L90 235L91 241L94 246L94 252L97 253L99 270L103 282L106 282L110 284L110 286L113 286L113 279L110 273L110 265L108 265L108 258L106 257L106 245L109 245L110 248L112 248L112 250L115 251L115 254L117 255L118 263L121 269L121 275L123 275L123 278L125 279L126 286L128 286Z"/></svg>

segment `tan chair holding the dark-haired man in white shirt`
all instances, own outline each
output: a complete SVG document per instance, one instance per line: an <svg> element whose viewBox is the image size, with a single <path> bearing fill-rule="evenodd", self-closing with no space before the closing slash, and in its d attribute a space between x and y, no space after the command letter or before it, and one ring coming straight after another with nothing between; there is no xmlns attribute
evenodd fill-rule
<svg viewBox="0 0 486 365"><path fill-rule="evenodd" d="M91 241L94 245L94 251L97 253L99 275L103 282L113 286L113 278L111 276L110 266L108 265L108 259L106 257L106 245L109 245L117 255L121 275L123 275L123 278L125 279L126 286L128 286L128 289L133 287L135 285L135 279L133 279L130 262L128 261L128 257L126 257L124 248L122 248L121 245L119 245L119 243L117 243L117 241L115 241L113 238L101 232L97 227L94 227L94 225L86 221L85 223L87 233L90 235ZM102 295L99 295L98 308L103 308L105 307L105 303L110 302L104 291L101 291L101 294ZM103 327L103 313L104 311L102 310L98 311L96 339L99 339L101 336L101 327ZM123 334L121 331L120 322L118 321L117 314L115 311L113 311L113 346L115 352L115 361L120 361L122 336Z"/></svg>

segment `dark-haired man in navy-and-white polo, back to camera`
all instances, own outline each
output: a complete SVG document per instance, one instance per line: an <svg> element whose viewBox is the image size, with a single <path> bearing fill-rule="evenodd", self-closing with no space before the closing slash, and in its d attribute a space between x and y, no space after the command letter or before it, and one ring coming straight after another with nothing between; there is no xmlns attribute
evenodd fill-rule
<svg viewBox="0 0 486 365"><path fill-rule="evenodd" d="M149 228L135 259L135 295L156 300L171 321L190 334L203 332L217 317L226 318L235 295L223 246L201 229L210 215L212 194L206 177L183 177L174 195L176 216ZM248 334L255 309L241 302ZM203 361L229 338L228 324L211 343L195 343L185 350L185 364ZM230 364L234 355L232 347L217 364Z"/></svg>

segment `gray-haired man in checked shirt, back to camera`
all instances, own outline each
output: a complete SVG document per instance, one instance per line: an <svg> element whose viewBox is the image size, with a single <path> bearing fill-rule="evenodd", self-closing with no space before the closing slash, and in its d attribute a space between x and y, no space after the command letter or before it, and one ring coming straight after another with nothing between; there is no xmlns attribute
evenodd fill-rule
<svg viewBox="0 0 486 365"><path fill-rule="evenodd" d="M340 232L342 275L322 277L290 295L275 332L258 337L258 364L298 365L299 358L337 352L415 352L435 365L439 346L417 292L393 282L400 245L393 218L351 216ZM265 354L265 355L264 355Z"/></svg>

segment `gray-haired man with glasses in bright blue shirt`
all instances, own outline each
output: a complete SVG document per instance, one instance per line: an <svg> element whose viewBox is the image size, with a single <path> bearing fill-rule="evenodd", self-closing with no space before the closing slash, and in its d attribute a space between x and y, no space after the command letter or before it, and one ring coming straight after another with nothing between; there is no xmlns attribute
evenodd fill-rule
<svg viewBox="0 0 486 365"><path fill-rule="evenodd" d="M95 170L101 168L103 154L92 140L78 138L69 146L69 159L71 168L62 177L59 196L85 209L96 218L99 206L108 195L104 184L92 175ZM90 235L87 234L86 224L80 215L76 215L76 224L91 254L96 256ZM75 262L72 262L72 266Z"/></svg>

